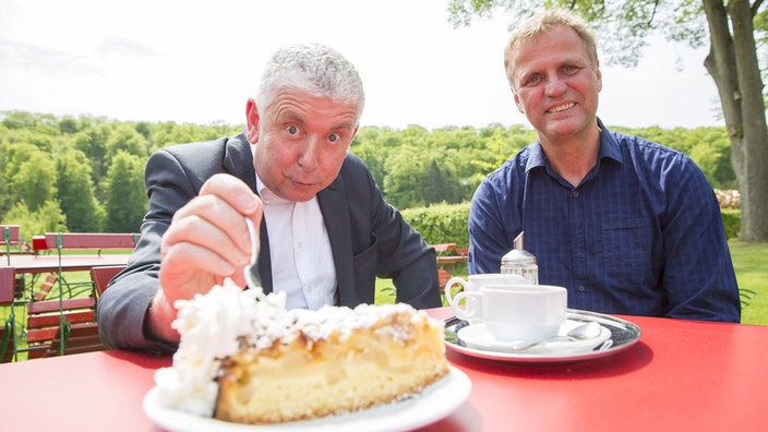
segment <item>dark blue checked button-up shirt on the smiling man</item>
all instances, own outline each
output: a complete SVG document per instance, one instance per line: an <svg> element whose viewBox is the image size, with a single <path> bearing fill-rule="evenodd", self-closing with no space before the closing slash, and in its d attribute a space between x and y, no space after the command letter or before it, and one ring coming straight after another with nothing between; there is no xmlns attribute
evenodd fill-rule
<svg viewBox="0 0 768 432"><path fill-rule="evenodd" d="M525 231L539 283L601 313L739 322L741 302L712 188L685 154L602 129L597 165L574 188L538 142L472 197L469 273L497 273Z"/></svg>

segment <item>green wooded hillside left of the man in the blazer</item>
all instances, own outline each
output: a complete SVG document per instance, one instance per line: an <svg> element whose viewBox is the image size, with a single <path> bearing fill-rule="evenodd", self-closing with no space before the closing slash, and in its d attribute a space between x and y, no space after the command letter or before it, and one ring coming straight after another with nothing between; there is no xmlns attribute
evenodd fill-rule
<svg viewBox="0 0 768 432"><path fill-rule="evenodd" d="M46 231L136 232L153 149L241 130L0 112L0 221L22 225L27 239Z"/></svg>

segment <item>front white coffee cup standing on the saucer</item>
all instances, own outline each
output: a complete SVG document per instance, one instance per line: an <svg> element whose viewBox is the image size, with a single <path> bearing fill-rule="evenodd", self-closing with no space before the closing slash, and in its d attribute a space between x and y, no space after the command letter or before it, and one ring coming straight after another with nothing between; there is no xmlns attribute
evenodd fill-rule
<svg viewBox="0 0 768 432"><path fill-rule="evenodd" d="M556 336L565 322L567 290L552 285L487 285L454 297L456 316L481 320L500 341L533 343ZM459 301L465 299L461 308Z"/></svg>

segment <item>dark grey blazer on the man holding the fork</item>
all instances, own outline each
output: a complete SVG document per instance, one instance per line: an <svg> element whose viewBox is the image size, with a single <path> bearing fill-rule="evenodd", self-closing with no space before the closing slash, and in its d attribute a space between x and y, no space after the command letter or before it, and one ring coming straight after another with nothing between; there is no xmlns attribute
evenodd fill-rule
<svg viewBox="0 0 768 432"><path fill-rule="evenodd" d="M173 213L197 195L213 175L227 172L255 192L250 144L244 135L171 146L149 157L145 183L149 208L129 265L98 302L101 338L109 347L172 351L148 340L144 320L158 289L160 239ZM415 308L441 305L434 249L382 197L364 163L348 155L334 182L317 193L336 266L337 304L373 303L375 277L392 278L397 301ZM259 272L272 292L269 238L261 226Z"/></svg>

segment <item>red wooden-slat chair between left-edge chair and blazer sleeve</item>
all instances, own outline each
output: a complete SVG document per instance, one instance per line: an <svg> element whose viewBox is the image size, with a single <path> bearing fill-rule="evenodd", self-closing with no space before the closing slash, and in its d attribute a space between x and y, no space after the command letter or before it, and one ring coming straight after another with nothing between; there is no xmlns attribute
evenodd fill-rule
<svg viewBox="0 0 768 432"><path fill-rule="evenodd" d="M57 333L63 335L64 348L71 326L82 323L96 323L96 299L59 299L35 301L27 304L26 341L29 359L45 357ZM64 328L63 331L61 328ZM61 333L64 332L64 333Z"/></svg>

